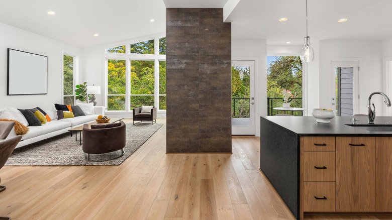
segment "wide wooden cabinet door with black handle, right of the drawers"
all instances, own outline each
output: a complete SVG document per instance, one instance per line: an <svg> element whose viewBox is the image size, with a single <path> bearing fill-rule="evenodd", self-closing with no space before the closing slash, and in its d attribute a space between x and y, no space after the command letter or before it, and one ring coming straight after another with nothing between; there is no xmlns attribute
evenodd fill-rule
<svg viewBox="0 0 392 220"><path fill-rule="evenodd" d="M336 211L375 211L375 137L336 137Z"/></svg>

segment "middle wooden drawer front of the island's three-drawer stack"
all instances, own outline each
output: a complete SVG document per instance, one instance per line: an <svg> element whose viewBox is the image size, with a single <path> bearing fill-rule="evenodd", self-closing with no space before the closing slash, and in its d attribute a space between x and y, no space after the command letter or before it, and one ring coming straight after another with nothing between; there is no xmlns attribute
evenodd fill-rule
<svg viewBox="0 0 392 220"><path fill-rule="evenodd" d="M305 182L335 182L335 152L304 152L303 160Z"/></svg>

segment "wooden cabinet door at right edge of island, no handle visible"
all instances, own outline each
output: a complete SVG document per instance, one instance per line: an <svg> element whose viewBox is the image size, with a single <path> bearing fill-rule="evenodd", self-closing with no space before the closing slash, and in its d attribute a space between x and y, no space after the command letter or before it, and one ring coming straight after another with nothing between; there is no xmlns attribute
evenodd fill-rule
<svg viewBox="0 0 392 220"><path fill-rule="evenodd" d="M376 211L392 212L392 137L376 138Z"/></svg>

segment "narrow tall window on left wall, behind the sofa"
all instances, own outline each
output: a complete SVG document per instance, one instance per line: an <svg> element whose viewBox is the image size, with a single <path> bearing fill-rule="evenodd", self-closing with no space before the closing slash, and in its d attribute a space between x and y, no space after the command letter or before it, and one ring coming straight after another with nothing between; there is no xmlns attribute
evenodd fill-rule
<svg viewBox="0 0 392 220"><path fill-rule="evenodd" d="M63 103L74 104L74 57L63 55Z"/></svg>

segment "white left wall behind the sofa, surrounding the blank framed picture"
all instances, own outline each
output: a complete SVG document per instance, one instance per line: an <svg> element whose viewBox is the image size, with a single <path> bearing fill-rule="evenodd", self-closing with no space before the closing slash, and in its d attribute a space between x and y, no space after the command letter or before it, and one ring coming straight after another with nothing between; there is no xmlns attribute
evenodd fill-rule
<svg viewBox="0 0 392 220"><path fill-rule="evenodd" d="M6 106L54 109L54 103L61 103L62 99L62 50L81 55L81 49L3 23L0 33L0 109ZM48 57L48 94L7 95L7 48Z"/></svg>

